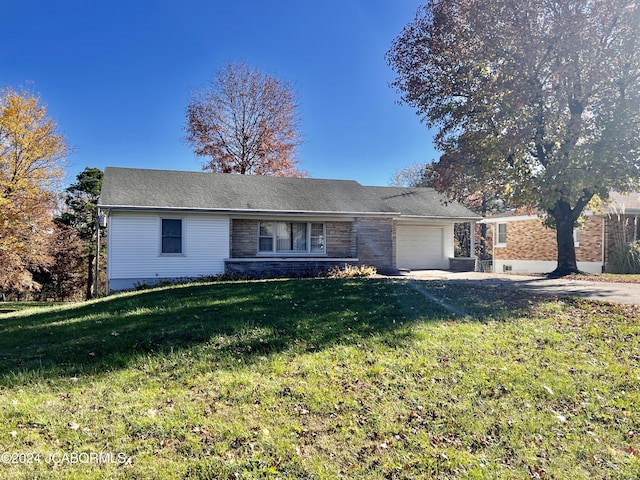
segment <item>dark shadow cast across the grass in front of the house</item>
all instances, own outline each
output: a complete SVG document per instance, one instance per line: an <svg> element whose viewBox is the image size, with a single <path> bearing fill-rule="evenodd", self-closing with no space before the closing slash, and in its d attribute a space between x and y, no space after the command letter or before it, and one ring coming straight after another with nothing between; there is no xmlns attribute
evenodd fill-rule
<svg viewBox="0 0 640 480"><path fill-rule="evenodd" d="M460 290L441 288L450 295ZM411 335L407 324L450 319L407 282L389 279L213 283L135 292L0 317L0 380L11 382L20 372L46 378L112 371L141 355L196 346L208 348L219 368L237 365L239 357L256 362L286 349L317 351L372 337L401 347Z"/></svg>

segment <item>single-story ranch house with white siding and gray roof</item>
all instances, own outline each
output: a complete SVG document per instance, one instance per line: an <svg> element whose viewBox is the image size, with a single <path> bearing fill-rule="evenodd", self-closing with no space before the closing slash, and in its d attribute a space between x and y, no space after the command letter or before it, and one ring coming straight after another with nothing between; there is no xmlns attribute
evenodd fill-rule
<svg viewBox="0 0 640 480"><path fill-rule="evenodd" d="M454 224L480 220L429 188L115 167L105 169L99 208L109 225L107 291L344 264L447 269Z"/></svg>

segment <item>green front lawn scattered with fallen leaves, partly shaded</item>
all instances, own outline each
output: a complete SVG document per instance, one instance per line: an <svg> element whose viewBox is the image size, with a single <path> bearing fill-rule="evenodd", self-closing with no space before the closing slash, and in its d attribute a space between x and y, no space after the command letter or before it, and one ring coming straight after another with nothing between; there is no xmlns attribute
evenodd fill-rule
<svg viewBox="0 0 640 480"><path fill-rule="evenodd" d="M0 330L3 479L640 478L632 306L275 280Z"/></svg>

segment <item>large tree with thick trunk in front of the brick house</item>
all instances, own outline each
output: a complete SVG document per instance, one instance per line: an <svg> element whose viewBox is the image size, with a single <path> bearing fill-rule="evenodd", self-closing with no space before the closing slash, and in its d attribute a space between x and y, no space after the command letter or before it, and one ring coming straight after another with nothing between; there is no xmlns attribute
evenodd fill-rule
<svg viewBox="0 0 640 480"><path fill-rule="evenodd" d="M640 178L640 6L631 0L430 0L387 53L402 101L467 177L556 228L556 273L594 195Z"/></svg>

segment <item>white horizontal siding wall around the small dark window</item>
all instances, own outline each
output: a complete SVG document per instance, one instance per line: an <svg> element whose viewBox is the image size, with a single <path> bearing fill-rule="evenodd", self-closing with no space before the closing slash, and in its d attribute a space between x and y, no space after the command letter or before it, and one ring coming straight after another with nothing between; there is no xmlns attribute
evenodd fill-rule
<svg viewBox="0 0 640 480"><path fill-rule="evenodd" d="M182 255L160 254L162 218L183 220ZM154 279L220 274L229 256L229 218L225 216L112 212L108 233L112 289ZM133 282L120 281L124 279Z"/></svg>

